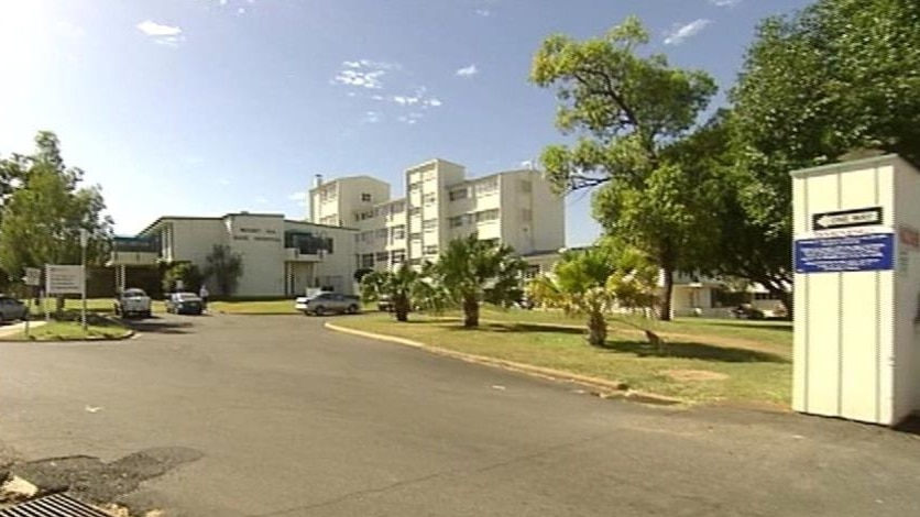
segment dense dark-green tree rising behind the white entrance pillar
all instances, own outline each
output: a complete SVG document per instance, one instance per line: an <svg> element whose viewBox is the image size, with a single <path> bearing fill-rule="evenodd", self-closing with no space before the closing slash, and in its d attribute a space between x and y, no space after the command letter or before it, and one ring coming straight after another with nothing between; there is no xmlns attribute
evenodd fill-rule
<svg viewBox="0 0 920 517"><path fill-rule="evenodd" d="M789 172L861 148L920 163L916 63L914 0L818 0L760 24L731 95L740 176L730 208L740 223L725 234L727 242L752 244L756 255L734 264L735 274L780 295L777 286L791 285ZM759 245L751 242L758 232Z"/></svg>

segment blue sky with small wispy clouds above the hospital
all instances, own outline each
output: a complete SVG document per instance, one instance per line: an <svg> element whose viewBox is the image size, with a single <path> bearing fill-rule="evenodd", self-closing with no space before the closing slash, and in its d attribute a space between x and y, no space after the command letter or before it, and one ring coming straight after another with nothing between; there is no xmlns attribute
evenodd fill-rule
<svg viewBox="0 0 920 517"><path fill-rule="evenodd" d="M0 154L55 131L123 234L163 215L300 219L317 173L398 193L432 157L482 175L562 140L552 94L527 82L551 33L637 14L650 51L724 91L757 21L806 3L0 0ZM588 196L566 202L568 244L594 240Z"/></svg>

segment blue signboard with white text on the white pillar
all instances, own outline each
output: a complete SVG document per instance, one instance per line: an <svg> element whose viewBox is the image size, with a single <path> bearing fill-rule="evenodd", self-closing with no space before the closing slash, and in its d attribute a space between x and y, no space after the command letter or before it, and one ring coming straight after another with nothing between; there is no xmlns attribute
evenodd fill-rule
<svg viewBox="0 0 920 517"><path fill-rule="evenodd" d="M895 234L796 241L796 273L845 273L894 268Z"/></svg>

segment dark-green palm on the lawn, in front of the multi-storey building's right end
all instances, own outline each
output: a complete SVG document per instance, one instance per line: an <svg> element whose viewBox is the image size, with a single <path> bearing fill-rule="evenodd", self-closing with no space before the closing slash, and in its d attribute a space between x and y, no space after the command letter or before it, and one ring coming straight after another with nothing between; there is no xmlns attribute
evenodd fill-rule
<svg viewBox="0 0 920 517"><path fill-rule="evenodd" d="M481 241L475 233L450 241L430 266L434 282L463 309L463 327L479 327L480 304L506 305L521 299L526 263L504 244Z"/></svg>

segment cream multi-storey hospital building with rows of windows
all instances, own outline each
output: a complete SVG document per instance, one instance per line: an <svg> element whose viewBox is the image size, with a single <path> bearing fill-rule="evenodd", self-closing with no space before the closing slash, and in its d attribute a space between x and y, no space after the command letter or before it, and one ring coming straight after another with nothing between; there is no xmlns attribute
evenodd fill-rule
<svg viewBox="0 0 920 517"><path fill-rule="evenodd" d="M447 243L475 232L522 254L566 243L562 199L538 170L468 178L462 165L432 160L405 172L405 196L390 185L352 176L310 190L310 220L355 228L358 268L386 270L434 261Z"/></svg>

